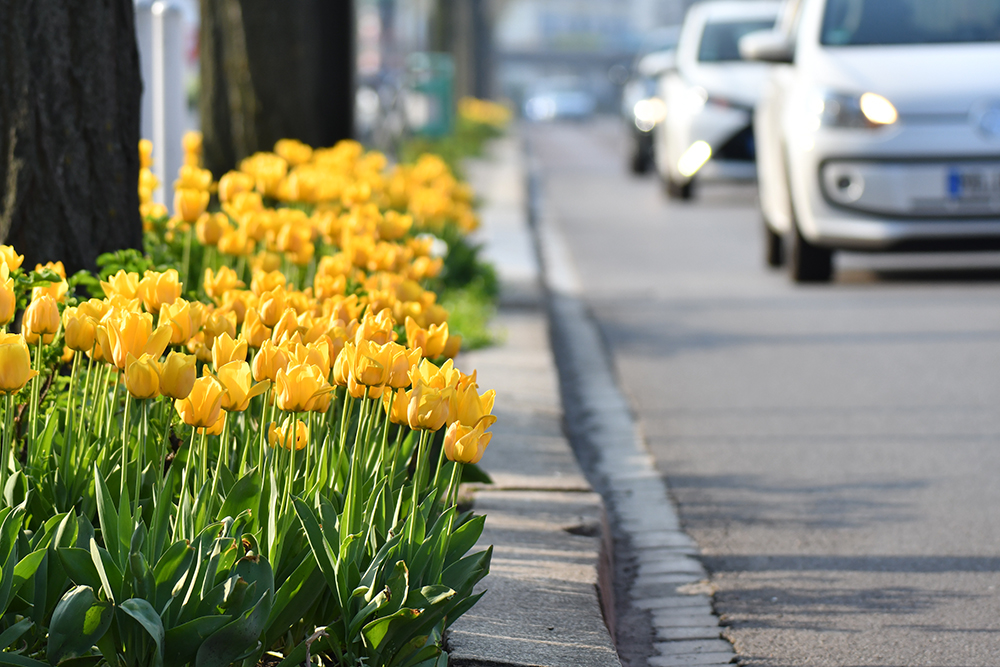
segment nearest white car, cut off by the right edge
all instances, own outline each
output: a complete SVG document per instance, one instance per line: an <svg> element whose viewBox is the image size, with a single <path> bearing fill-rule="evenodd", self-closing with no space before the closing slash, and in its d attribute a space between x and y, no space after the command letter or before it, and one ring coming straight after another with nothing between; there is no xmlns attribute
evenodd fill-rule
<svg viewBox="0 0 1000 667"><path fill-rule="evenodd" d="M1000 248L1000 0L789 0L745 57L767 261ZM788 252L783 252L787 240Z"/></svg>

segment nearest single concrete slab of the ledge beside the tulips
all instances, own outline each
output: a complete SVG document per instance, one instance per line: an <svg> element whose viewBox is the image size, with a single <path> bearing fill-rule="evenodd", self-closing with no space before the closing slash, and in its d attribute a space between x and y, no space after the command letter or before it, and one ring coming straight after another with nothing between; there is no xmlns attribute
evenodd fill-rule
<svg viewBox="0 0 1000 667"><path fill-rule="evenodd" d="M617 666L596 595L600 538L570 529L599 524L593 493L485 491L482 544L493 544L488 592L448 636L450 664Z"/></svg>

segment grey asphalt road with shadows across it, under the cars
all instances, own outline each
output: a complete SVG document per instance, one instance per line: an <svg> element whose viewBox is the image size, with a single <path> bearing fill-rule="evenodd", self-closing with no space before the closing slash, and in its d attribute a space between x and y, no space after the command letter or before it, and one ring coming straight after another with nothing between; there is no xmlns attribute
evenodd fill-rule
<svg viewBox="0 0 1000 667"><path fill-rule="evenodd" d="M1000 256L795 286L752 187L668 203L616 122L527 134L741 662L1000 665Z"/></svg>

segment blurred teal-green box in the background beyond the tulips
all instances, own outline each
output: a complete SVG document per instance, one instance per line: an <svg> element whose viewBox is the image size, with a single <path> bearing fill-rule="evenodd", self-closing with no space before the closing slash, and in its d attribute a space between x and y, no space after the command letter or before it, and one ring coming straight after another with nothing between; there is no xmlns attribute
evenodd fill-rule
<svg viewBox="0 0 1000 667"><path fill-rule="evenodd" d="M406 118L414 134L442 137L455 128L455 61L447 53L406 59Z"/></svg>

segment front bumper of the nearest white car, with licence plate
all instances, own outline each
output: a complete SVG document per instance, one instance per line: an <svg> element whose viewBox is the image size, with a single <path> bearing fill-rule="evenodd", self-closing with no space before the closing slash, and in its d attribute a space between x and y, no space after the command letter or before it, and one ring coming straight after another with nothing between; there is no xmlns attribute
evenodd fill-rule
<svg viewBox="0 0 1000 667"><path fill-rule="evenodd" d="M802 234L859 250L1000 246L1000 138L967 122L789 137Z"/></svg>

